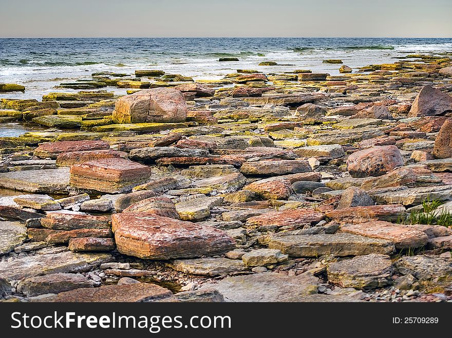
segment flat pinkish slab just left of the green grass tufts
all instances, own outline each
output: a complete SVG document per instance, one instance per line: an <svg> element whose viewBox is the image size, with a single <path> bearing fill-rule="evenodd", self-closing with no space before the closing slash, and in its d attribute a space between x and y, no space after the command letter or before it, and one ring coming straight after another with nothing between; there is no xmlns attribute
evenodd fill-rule
<svg viewBox="0 0 452 338"><path fill-rule="evenodd" d="M394 243L396 249L419 248L427 244L427 235L410 226L396 225L384 221L362 224L346 224L341 231L373 238L380 238Z"/></svg>

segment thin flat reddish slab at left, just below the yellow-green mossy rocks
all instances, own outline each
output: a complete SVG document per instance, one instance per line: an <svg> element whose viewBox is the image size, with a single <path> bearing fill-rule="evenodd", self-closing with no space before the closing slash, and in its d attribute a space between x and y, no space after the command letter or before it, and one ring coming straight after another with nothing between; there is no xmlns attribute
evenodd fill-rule
<svg viewBox="0 0 452 338"><path fill-rule="evenodd" d="M34 150L34 155L41 158L56 158L58 155L72 151L89 151L110 149L105 141L63 141L43 143Z"/></svg>

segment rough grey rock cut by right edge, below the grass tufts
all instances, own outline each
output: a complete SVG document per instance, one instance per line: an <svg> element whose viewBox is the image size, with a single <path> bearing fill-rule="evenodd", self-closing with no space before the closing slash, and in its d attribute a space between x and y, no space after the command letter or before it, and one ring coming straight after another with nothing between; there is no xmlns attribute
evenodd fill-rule
<svg viewBox="0 0 452 338"><path fill-rule="evenodd" d="M452 262L433 255L403 256L395 265L400 273L411 274L421 281L452 274Z"/></svg>

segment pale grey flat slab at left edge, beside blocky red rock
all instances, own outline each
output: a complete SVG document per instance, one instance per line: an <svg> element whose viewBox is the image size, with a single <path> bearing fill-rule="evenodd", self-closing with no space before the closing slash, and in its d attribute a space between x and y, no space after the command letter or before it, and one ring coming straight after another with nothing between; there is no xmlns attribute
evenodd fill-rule
<svg viewBox="0 0 452 338"><path fill-rule="evenodd" d="M69 168L0 173L0 188L33 193L67 193Z"/></svg>

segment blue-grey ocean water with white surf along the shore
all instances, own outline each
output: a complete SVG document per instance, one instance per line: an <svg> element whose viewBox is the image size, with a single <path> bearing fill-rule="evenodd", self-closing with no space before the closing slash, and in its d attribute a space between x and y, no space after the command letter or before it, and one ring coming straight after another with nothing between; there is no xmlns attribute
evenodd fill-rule
<svg viewBox="0 0 452 338"><path fill-rule="evenodd" d="M452 38L0 38L0 83L26 86L25 93L2 93L0 98L40 100L62 82L100 71L161 69L195 79L218 79L237 69L311 69L336 75L339 66L323 64L324 59L340 58L356 68L393 63L409 53L450 52ZM218 62L227 56L239 61ZM261 61L281 65L258 66Z"/></svg>

